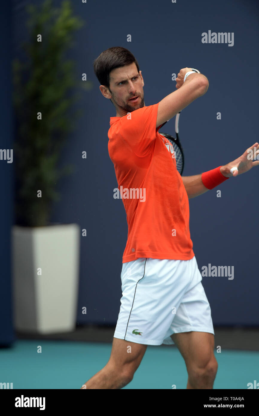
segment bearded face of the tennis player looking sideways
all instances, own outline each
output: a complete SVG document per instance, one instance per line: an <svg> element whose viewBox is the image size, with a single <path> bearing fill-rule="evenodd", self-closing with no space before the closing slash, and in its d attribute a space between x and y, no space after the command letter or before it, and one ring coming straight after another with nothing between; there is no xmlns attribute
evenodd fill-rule
<svg viewBox="0 0 259 416"><path fill-rule="evenodd" d="M113 69L110 73L110 87L100 86L104 97L111 99L115 108L116 116L122 117L128 112L134 111L145 106L144 81L136 67L135 62L125 67ZM131 100L138 97L136 100Z"/></svg>

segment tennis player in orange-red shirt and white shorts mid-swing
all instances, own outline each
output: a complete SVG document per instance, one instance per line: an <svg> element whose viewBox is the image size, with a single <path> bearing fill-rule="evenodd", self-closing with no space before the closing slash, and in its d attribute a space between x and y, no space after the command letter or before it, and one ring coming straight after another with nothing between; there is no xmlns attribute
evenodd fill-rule
<svg viewBox="0 0 259 416"><path fill-rule="evenodd" d="M248 158L245 151L225 166L181 177L158 130L207 92L207 77L183 68L176 78L176 91L146 106L143 77L127 49L111 47L102 52L94 61L94 72L101 93L116 109L110 119L108 149L123 193L128 240L111 357L81 389L121 389L133 379L147 345L161 344L175 344L180 350L188 372L187 389L213 389L214 329L192 250L188 198L202 195L259 161ZM152 87L158 88L158 82L155 79ZM259 144L250 149L256 158Z"/></svg>

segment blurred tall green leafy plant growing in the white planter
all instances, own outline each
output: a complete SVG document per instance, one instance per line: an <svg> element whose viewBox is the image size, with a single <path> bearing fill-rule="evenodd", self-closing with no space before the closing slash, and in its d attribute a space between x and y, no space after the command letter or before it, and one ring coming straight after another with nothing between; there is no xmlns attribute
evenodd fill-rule
<svg viewBox="0 0 259 416"><path fill-rule="evenodd" d="M13 62L15 223L35 227L49 224L52 203L60 199L56 185L73 171L72 165L58 168L60 150L81 115L81 110L69 113L79 98L72 91L91 85L74 80L74 62L64 56L72 46L72 32L83 25L72 15L70 1L54 8L46 0L41 9L30 5L27 10L27 59Z"/></svg>

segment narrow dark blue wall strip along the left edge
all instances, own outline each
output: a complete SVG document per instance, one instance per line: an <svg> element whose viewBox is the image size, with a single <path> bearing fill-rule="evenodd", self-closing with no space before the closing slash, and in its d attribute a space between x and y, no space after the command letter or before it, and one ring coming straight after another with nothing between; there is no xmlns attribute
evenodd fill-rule
<svg viewBox="0 0 259 416"><path fill-rule="evenodd" d="M0 12L0 149L12 149L12 104L11 104L11 4L1 4ZM2 153L2 152L1 152ZM8 155L7 155L8 156ZM10 154L9 154L10 156ZM11 287L11 239L12 225L12 163L4 156L0 160L0 345L14 340L12 326Z"/></svg>

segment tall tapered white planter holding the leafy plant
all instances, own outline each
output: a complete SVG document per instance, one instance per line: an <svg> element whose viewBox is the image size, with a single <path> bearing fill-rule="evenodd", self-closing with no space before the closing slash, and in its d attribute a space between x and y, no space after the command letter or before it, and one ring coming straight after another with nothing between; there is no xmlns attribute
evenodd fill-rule
<svg viewBox="0 0 259 416"><path fill-rule="evenodd" d="M77 224L12 227L13 303L18 331L50 334L76 327L79 235Z"/></svg>

